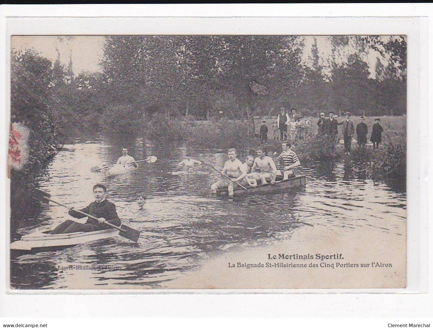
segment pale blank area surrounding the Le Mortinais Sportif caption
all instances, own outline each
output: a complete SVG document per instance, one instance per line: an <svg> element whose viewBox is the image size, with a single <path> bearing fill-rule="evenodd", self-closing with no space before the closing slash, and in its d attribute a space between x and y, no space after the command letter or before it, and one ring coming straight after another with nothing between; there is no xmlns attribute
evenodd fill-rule
<svg viewBox="0 0 433 328"><path fill-rule="evenodd" d="M386 226L386 222L383 223ZM290 239L236 247L165 283L170 289L404 288L406 234L375 228L330 230L306 226ZM280 258L279 254L284 254ZM294 259L311 255L313 259ZM330 255L330 259L316 258ZM340 255L342 254L342 255ZM275 259L273 257L276 257ZM336 258L334 258L336 257ZM341 258L339 258L341 257ZM338 267L337 267L338 263ZM233 267L229 267L233 266ZM252 267L247 267L247 266ZM263 267L255 267L257 265ZM317 267L313 267L317 265ZM361 267L368 265L368 267ZM299 267L302 266L302 267ZM306 266L306 267L304 267Z"/></svg>

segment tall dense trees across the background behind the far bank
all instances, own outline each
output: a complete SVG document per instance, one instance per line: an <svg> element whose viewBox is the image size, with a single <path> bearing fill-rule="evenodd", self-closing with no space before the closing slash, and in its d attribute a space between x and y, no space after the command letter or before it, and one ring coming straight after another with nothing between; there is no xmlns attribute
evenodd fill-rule
<svg viewBox="0 0 433 328"><path fill-rule="evenodd" d="M275 115L280 106L304 116L406 113L404 37L329 38L332 55L325 61L318 38L308 48L303 36L107 36L100 73L75 76L71 64L54 64L56 117L76 136L105 130L107 116L117 121L113 132L124 132L132 115L144 122L130 131L144 126L155 135L152 115L251 119ZM347 54L347 48L355 51ZM371 51L377 55L374 74L367 64Z"/></svg>

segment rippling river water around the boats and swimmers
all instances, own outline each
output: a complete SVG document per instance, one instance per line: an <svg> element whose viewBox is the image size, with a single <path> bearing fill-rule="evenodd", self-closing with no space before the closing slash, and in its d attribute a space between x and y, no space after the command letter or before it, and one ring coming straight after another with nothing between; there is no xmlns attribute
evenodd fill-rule
<svg viewBox="0 0 433 328"><path fill-rule="evenodd" d="M153 154L158 161L110 179L91 172L91 167L116 162L123 147L136 160ZM187 173L178 167L187 152L217 167L226 158L225 150L187 149L141 138L65 145L41 189L80 208L94 200L92 186L102 182L123 223L142 231L142 238L138 244L117 237L11 257L12 288L155 289L232 247L287 239L308 225L323 225L330 234L352 229L368 234L373 229L402 235L406 229L406 194L358 177L350 162L313 163L299 172L307 175L305 187L229 202L209 193L218 173L205 168ZM139 210L134 202L142 192L148 199L146 209ZM45 230L66 218L67 209L44 205L38 226L24 226L20 232Z"/></svg>

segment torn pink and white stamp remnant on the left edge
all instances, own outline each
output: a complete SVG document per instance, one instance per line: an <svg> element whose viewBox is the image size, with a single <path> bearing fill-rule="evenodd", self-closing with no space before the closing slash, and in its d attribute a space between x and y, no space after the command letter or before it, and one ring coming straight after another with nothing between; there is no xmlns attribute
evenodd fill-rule
<svg viewBox="0 0 433 328"><path fill-rule="evenodd" d="M9 129L8 164L21 170L29 157L29 129L21 123L12 123Z"/></svg>

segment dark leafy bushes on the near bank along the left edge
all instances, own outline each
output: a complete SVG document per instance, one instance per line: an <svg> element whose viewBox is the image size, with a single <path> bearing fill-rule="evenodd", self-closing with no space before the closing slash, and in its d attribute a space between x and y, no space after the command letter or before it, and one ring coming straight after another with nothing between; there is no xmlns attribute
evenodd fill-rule
<svg viewBox="0 0 433 328"><path fill-rule="evenodd" d="M13 224L32 216L37 209L30 191L63 144L53 115L51 81L50 61L32 51L12 53L11 122L20 122L30 130L28 162L21 170L10 171Z"/></svg>

